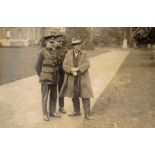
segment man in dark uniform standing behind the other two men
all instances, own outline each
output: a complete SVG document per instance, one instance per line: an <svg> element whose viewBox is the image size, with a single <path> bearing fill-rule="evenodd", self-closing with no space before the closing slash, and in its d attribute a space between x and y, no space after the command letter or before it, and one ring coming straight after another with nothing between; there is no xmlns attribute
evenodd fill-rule
<svg viewBox="0 0 155 155"><path fill-rule="evenodd" d="M60 46L57 49L58 54L58 73L59 73L59 83L58 83L58 91L60 93L63 81L64 81L64 70L62 67L65 55L67 53L67 49L65 48L65 40L63 35L59 34L55 36L55 40L60 43ZM59 111L61 113L66 114L64 109L64 97L59 97Z"/></svg>

